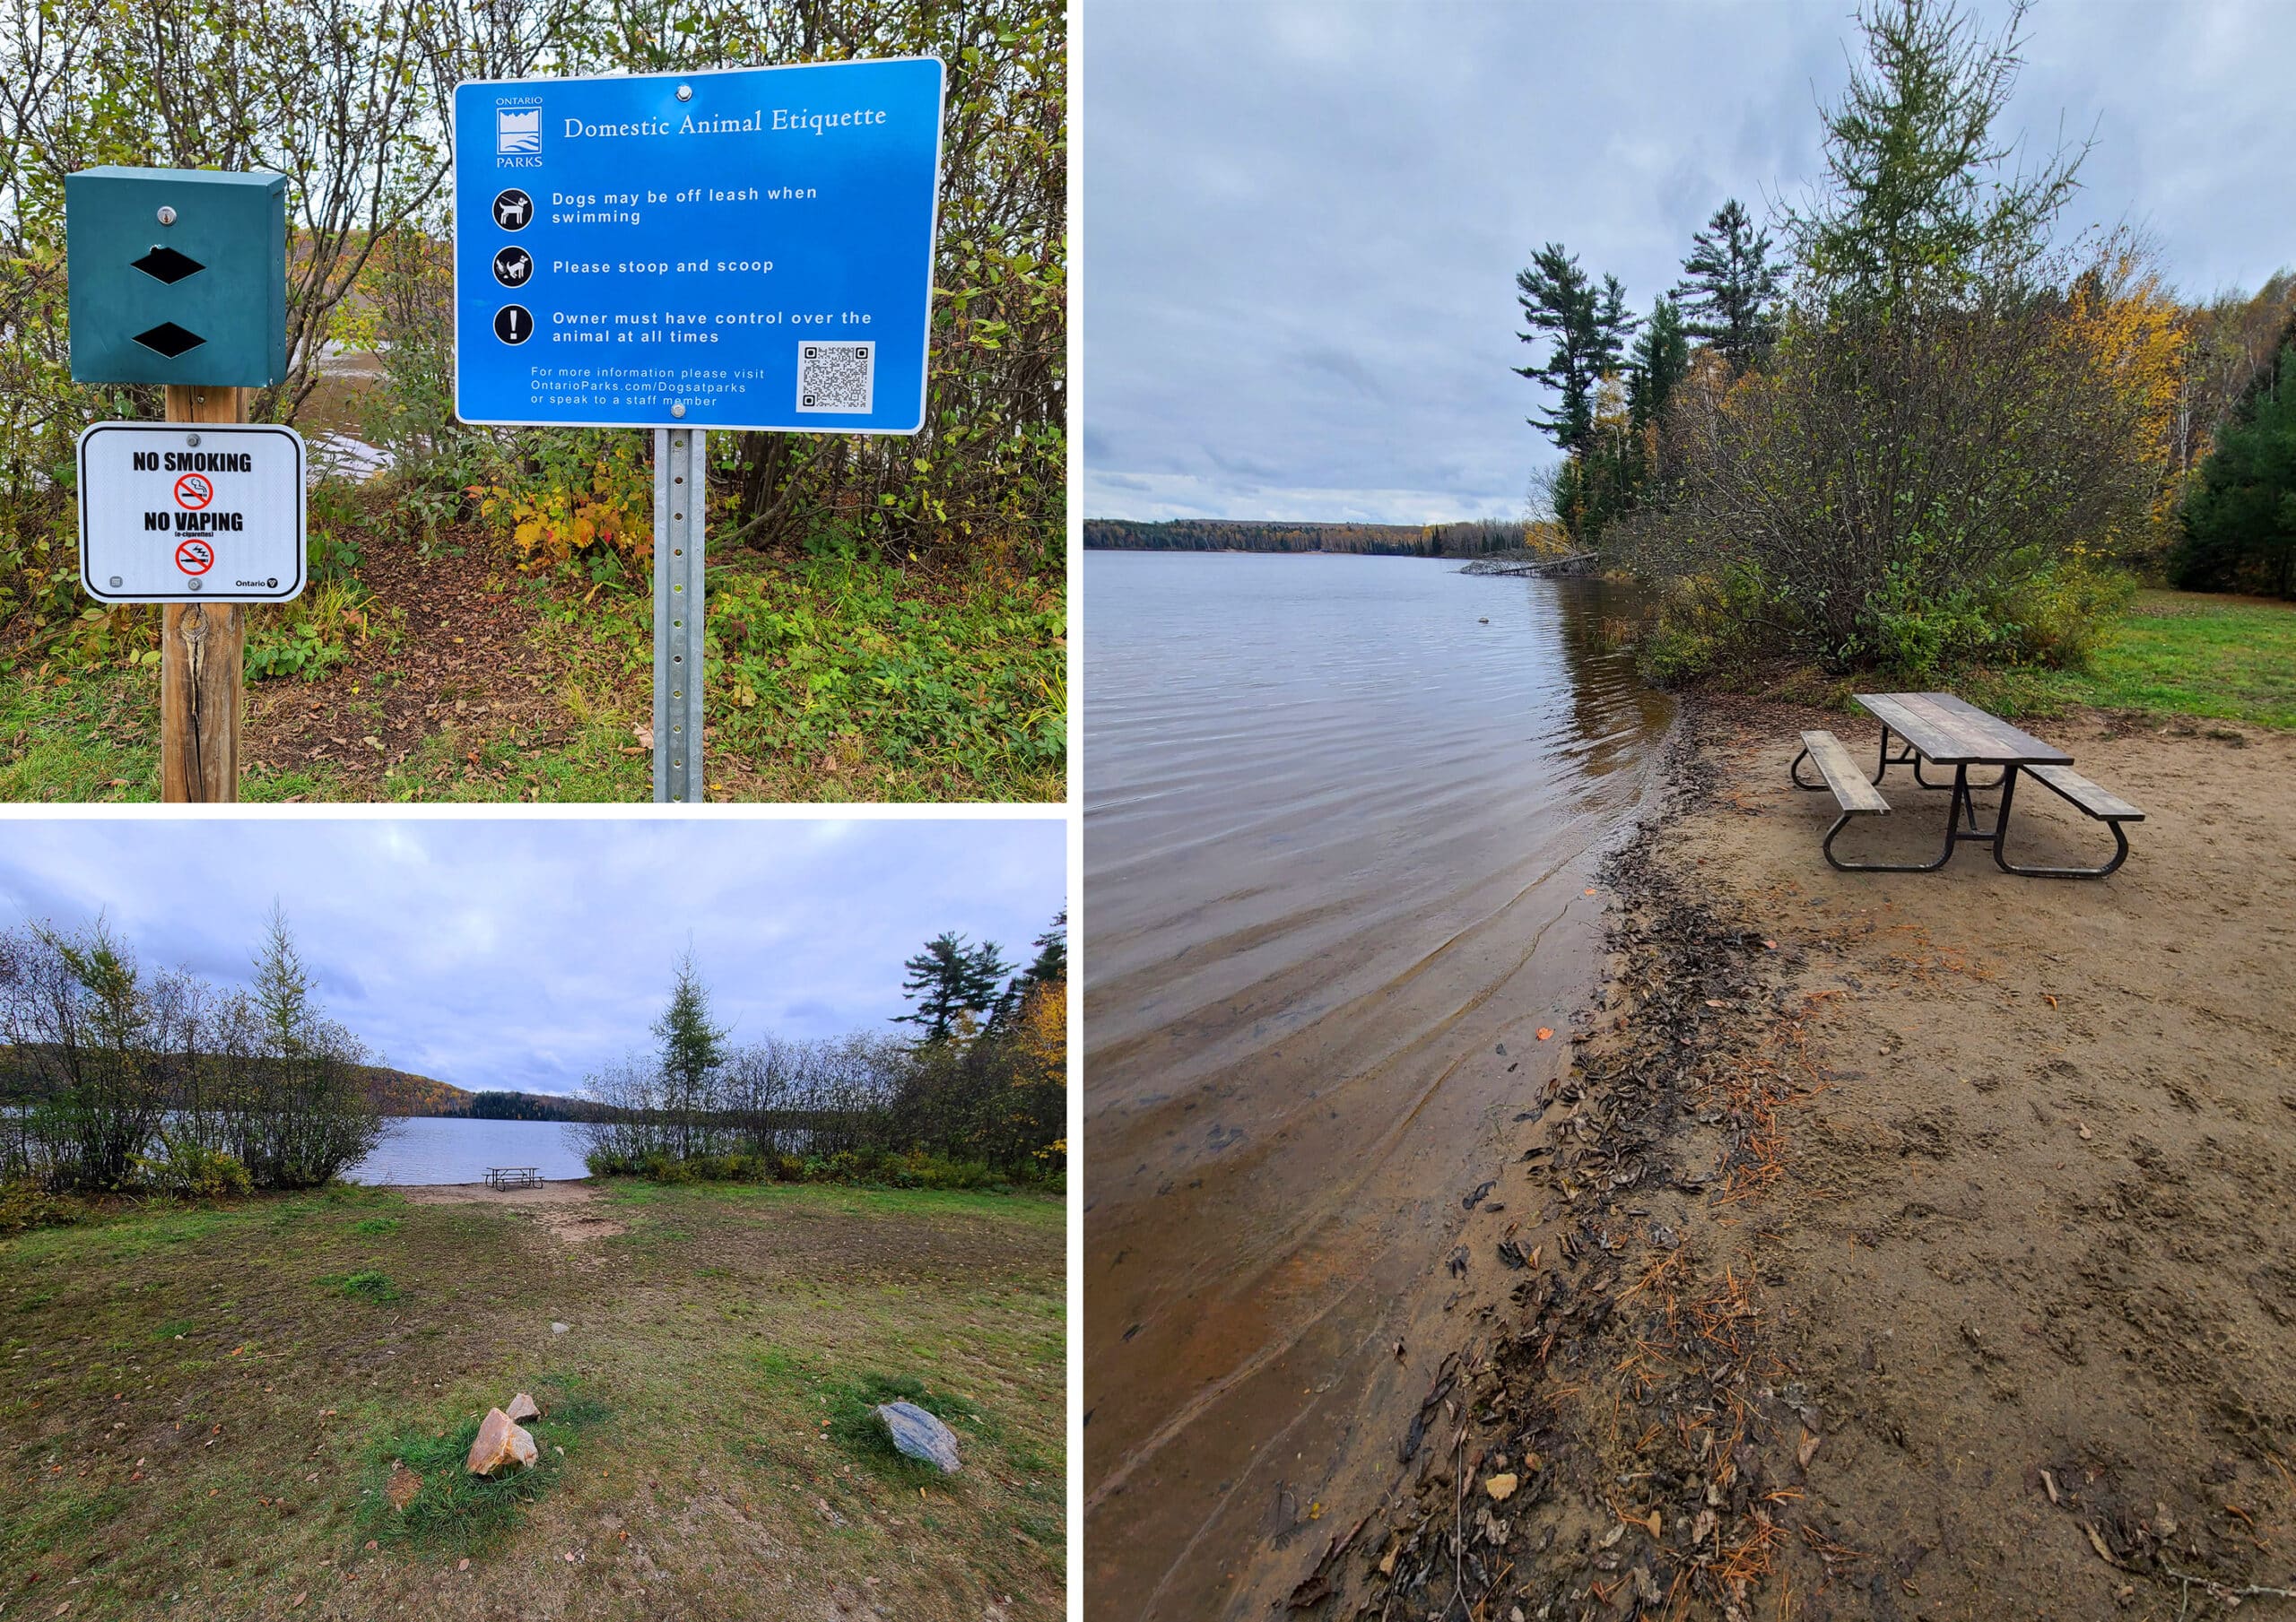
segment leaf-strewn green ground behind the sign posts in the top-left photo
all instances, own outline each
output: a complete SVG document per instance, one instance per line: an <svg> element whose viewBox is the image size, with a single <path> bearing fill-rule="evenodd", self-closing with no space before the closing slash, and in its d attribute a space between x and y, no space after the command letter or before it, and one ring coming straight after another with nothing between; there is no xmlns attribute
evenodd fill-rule
<svg viewBox="0 0 2296 1622"><path fill-rule="evenodd" d="M243 801L645 801L652 596L517 574L489 535L360 532L324 661L248 684ZM126 610L122 610L126 615ZM250 645L305 619L250 610ZM156 624L156 622L154 622ZM349 624L342 615L328 624ZM730 553L709 569L705 762L732 801L1058 801L1068 603L992 560ZM0 798L158 796L156 633L0 645Z"/></svg>

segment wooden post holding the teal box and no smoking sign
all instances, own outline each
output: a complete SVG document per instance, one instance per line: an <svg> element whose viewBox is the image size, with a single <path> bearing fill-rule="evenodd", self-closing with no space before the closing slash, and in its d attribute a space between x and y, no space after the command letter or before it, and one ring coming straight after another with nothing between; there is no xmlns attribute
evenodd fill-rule
<svg viewBox="0 0 2296 1622"><path fill-rule="evenodd" d="M246 422L248 390L168 385L170 422ZM246 697L239 603L168 603L158 638L158 796L239 798L239 711Z"/></svg>

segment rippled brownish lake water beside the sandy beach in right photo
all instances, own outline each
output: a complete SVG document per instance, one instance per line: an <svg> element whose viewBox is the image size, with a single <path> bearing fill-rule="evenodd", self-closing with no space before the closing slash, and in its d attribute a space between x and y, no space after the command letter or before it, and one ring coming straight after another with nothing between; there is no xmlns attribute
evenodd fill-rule
<svg viewBox="0 0 2296 1622"><path fill-rule="evenodd" d="M1446 560L1086 553L1095 1620L1265 1615L1389 1487L1430 1374L1394 1347L1465 1338L1460 1195L1566 1065L1671 718L1626 613Z"/></svg>

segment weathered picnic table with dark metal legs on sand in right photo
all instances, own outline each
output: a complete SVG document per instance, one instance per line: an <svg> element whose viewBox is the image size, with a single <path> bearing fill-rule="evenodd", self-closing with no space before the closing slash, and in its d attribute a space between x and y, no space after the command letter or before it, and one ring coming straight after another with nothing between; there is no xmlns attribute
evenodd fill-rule
<svg viewBox="0 0 2296 1622"><path fill-rule="evenodd" d="M2002 872L2020 879L2103 879L2128 860L2128 835L2124 824L2144 821L2144 812L2119 794L2099 787L2073 771L2073 757L2053 743L2043 743L2020 727L2011 727L1977 704L1952 693L1855 693L1855 702L1880 723L1880 750L1874 775L1867 778L1851 757L1848 746L1832 732L1805 732L1802 752L1786 769L1798 789L1830 789L1841 814L1825 835L1825 860L1841 872L1933 872L1954 858L1954 847L1963 842L1991 844L1993 860ZM1901 743L1892 752L1890 739ZM1802 762L1812 762L1823 782L1802 782ZM1952 782L1931 782L1922 764L1952 766ZM1857 817L1880 817L1890 812L1890 801L1880 791L1890 766L1913 766L1913 780L1924 789L1949 789L1945 808L1945 849L1926 863L1846 863L1835 856L1835 840ZM1970 766L2000 771L1991 782L1970 782ZM2112 860L2103 867L2025 867L2011 863L2004 844L2009 840L2009 810L2016 803L2016 785L2032 778L2060 798L2076 805L2087 817L2112 828ZM1977 794L2000 791L1993 826L1977 824Z"/></svg>

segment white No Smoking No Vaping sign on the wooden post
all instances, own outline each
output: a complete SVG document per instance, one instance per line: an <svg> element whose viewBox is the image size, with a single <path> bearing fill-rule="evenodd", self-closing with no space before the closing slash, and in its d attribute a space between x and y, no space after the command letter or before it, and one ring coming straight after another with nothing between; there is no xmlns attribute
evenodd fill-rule
<svg viewBox="0 0 2296 1622"><path fill-rule="evenodd" d="M80 583L106 603L285 603L303 590L303 436L96 422L80 434Z"/></svg>

